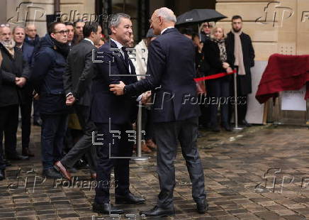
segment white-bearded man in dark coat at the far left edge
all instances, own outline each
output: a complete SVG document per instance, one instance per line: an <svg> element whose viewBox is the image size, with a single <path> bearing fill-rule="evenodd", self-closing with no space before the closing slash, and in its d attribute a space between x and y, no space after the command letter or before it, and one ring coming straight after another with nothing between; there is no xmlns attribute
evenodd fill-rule
<svg viewBox="0 0 309 220"><path fill-rule="evenodd" d="M22 87L29 77L29 67L23 53L15 47L9 26L0 27L0 51L2 57L0 88L0 133L4 131L5 154L9 160L24 160L28 157L16 152L18 105L26 101Z"/></svg>

